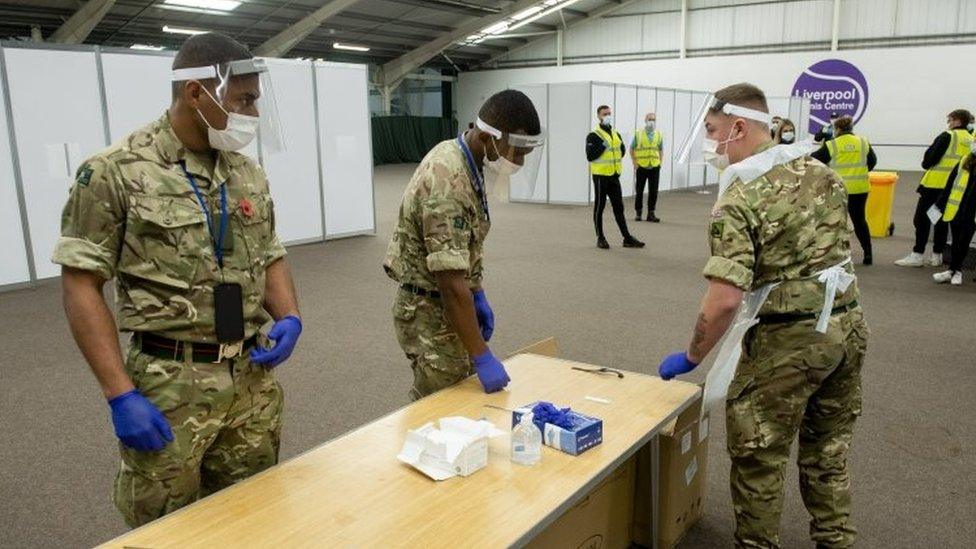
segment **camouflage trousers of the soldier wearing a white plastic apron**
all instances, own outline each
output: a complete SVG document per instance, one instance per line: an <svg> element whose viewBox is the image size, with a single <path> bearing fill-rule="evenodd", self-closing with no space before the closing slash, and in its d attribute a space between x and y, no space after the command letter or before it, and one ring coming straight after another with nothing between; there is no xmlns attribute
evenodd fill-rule
<svg viewBox="0 0 976 549"><path fill-rule="evenodd" d="M832 316L826 334L815 324L760 324L743 342L726 401L736 547L780 546L783 472L797 434L811 539L854 544L847 454L868 329L860 307Z"/></svg>

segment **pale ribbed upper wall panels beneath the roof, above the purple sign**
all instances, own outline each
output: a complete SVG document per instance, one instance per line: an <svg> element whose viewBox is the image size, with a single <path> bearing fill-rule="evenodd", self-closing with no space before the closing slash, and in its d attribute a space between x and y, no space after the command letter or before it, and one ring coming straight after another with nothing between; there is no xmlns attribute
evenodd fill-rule
<svg viewBox="0 0 976 549"><path fill-rule="evenodd" d="M833 0L689 0L689 56L822 49L830 45ZM569 27L563 62L677 56L681 0L634 2ZM842 0L840 49L976 41L972 0ZM500 56L499 66L555 63L554 35Z"/></svg>

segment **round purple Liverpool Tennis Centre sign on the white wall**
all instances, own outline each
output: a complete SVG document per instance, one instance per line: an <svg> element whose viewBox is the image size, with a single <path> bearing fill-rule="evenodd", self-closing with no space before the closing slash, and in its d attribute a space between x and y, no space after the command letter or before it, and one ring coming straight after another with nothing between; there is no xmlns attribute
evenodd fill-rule
<svg viewBox="0 0 976 549"><path fill-rule="evenodd" d="M792 95L810 100L810 133L816 133L830 123L832 112L860 120L868 106L868 81L847 61L825 59L800 74Z"/></svg>

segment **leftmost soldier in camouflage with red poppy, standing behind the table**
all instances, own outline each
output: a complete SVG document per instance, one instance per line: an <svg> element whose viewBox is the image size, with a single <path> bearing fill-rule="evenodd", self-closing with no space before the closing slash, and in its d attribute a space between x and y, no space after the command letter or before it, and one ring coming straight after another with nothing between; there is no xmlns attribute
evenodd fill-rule
<svg viewBox="0 0 976 549"><path fill-rule="evenodd" d="M190 38L173 66L249 58L207 34ZM75 339L112 408L122 458L114 500L133 527L278 460L282 391L271 368L301 331L294 287L264 172L226 143L216 150L207 130L226 124L217 123L225 109L256 116L256 83L229 78L217 104L215 79L177 82L163 116L79 168L64 208L53 260ZM228 212L222 266L191 178L215 226ZM112 278L118 329L132 333L124 357L101 292ZM216 343L220 283L240 286L236 349ZM272 318L269 350L259 329Z"/></svg>

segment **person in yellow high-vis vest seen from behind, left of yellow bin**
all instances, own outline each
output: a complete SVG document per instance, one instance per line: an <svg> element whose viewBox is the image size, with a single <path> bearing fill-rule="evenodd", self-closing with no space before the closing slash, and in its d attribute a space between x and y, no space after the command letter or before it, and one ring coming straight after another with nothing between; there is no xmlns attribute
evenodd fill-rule
<svg viewBox="0 0 976 549"><path fill-rule="evenodd" d="M847 213L854 225L854 234L864 251L864 265L873 262L871 254L871 230L864 214L871 184L868 172L878 163L871 144L866 137L854 135L854 120L842 116L834 121L833 139L824 141L820 150L812 157L827 164L844 180L847 188Z"/></svg>

